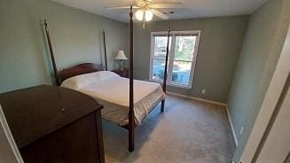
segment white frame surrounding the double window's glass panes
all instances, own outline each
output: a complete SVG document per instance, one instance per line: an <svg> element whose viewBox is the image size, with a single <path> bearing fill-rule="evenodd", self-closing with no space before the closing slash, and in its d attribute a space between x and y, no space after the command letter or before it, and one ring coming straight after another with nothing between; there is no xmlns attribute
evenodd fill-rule
<svg viewBox="0 0 290 163"><path fill-rule="evenodd" d="M198 57L198 51L199 51L199 45L200 45L200 30L189 30L189 31L171 31L170 35L171 37L171 46L169 47L169 58L172 58L171 62L169 61L168 66L168 78L167 78L167 85L174 86L177 88L183 88L183 89L192 89L192 82L195 74L195 66L197 62ZM153 80L153 58L154 58L154 45L155 45L155 35L168 35L168 31L159 31L159 32L151 32L151 47L150 47L150 70L149 70L149 81L152 82L161 82L161 80ZM193 50L193 57L192 57L192 67L191 67L191 74L189 78L189 84L188 85L182 85L182 84L176 84L172 83L172 72L173 72L173 64L174 64L174 55L175 55L175 48L176 48L176 36L175 35L196 35L196 42L194 45Z"/></svg>

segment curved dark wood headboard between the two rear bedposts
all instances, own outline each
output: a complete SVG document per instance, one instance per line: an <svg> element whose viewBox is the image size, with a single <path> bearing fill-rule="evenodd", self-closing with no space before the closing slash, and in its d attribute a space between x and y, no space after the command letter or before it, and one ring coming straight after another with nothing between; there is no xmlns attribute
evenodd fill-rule
<svg viewBox="0 0 290 163"><path fill-rule="evenodd" d="M83 63L83 64L79 64L76 66L72 66L66 69L63 69L59 72L59 80L60 83L64 82L66 79L76 76L76 75L80 75L80 74L89 74L89 73L93 73L93 72L98 72L98 71L102 71L103 66L101 65L97 65L97 64L93 64L93 63Z"/></svg>

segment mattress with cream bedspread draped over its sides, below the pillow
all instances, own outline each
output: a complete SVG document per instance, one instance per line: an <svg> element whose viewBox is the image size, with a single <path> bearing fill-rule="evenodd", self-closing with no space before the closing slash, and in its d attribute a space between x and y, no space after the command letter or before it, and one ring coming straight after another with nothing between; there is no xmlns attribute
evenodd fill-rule
<svg viewBox="0 0 290 163"><path fill-rule="evenodd" d="M104 105L102 118L120 126L127 125L129 123L129 79L113 75L106 79L92 81L79 88L72 88L67 84L61 86L81 91L95 98L99 104ZM140 125L146 115L164 98L165 94L161 89L161 84L134 80L136 124Z"/></svg>

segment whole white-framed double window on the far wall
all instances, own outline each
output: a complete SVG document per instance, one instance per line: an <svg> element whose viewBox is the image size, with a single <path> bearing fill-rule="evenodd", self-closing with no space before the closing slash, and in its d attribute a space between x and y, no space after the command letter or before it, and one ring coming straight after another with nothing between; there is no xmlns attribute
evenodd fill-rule
<svg viewBox="0 0 290 163"><path fill-rule="evenodd" d="M167 32L151 34L150 80L163 82ZM200 31L173 31L169 37L169 85L192 88Z"/></svg>

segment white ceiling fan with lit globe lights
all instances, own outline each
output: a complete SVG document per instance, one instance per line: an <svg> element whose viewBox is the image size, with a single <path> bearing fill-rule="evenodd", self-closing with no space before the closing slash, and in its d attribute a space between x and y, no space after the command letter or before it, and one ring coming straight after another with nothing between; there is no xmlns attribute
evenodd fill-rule
<svg viewBox="0 0 290 163"><path fill-rule="evenodd" d="M129 9L130 6L107 7L107 10ZM183 8L182 3L153 3L152 0L136 0L136 4L132 5L133 9L139 9L135 12L135 18L143 21L143 28L145 28L145 21L151 21L153 15L161 19L169 19L169 16L156 9L174 9Z"/></svg>

